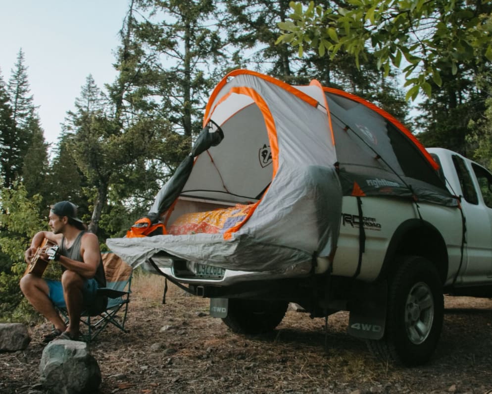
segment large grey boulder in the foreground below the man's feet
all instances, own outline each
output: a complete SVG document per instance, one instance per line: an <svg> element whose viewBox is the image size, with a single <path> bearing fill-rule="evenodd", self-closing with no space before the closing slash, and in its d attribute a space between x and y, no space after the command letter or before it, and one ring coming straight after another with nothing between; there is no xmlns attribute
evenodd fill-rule
<svg viewBox="0 0 492 394"><path fill-rule="evenodd" d="M87 343L56 339L45 347L39 366L43 387L54 394L96 393L101 371Z"/></svg>

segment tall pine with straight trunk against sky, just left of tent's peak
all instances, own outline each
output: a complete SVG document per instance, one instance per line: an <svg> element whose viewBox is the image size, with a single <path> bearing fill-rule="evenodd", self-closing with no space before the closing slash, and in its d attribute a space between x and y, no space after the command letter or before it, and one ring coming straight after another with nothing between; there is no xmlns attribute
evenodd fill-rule
<svg viewBox="0 0 492 394"><path fill-rule="evenodd" d="M135 36L148 47L151 67L158 70L158 84L151 90L162 98L159 109L175 130L191 137L201 130L202 110L223 56L216 2L137 0L136 4L149 12L148 19L137 24Z"/></svg>

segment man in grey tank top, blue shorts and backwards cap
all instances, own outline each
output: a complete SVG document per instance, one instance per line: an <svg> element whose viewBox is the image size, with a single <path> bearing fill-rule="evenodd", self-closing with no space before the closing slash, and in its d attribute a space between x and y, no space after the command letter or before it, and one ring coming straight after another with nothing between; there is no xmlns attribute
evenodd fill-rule
<svg viewBox="0 0 492 394"><path fill-rule="evenodd" d="M49 226L51 231L34 235L25 259L31 262L45 238L57 244L59 249L54 256L46 253L48 247L43 248L39 256L61 264L61 281L27 274L21 279L20 288L34 308L54 326L53 331L45 335L45 342L54 338L77 340L82 311L89 310L96 315L106 307L107 299L97 294L97 289L106 285L98 237L86 231L84 223L77 218L76 205L69 201L51 206ZM55 306L66 307L68 327Z"/></svg>

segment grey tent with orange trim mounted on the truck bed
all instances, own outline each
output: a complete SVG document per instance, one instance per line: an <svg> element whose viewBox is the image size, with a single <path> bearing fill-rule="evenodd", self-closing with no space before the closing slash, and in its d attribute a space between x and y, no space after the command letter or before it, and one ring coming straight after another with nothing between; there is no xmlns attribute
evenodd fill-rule
<svg viewBox="0 0 492 394"><path fill-rule="evenodd" d="M212 92L203 125L148 212L164 234L107 240L134 267L165 252L226 269L303 275L313 256L333 255L343 195L456 205L437 164L403 125L317 81L294 87L235 70Z"/></svg>

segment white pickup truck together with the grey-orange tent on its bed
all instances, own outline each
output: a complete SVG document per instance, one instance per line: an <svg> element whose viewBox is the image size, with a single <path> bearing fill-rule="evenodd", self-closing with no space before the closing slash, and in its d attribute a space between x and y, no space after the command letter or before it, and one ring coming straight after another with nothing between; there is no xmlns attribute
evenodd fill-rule
<svg viewBox="0 0 492 394"><path fill-rule="evenodd" d="M216 86L203 124L148 215L106 243L210 298L233 331L274 330L290 302L345 310L374 354L417 365L443 294L492 296L492 175L478 164L426 150L360 97L248 70Z"/></svg>

